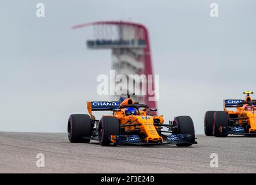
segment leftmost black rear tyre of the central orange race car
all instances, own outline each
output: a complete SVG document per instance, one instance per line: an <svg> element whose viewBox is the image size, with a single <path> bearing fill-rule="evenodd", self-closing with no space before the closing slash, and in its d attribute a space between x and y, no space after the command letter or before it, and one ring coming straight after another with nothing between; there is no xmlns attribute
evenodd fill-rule
<svg viewBox="0 0 256 185"><path fill-rule="evenodd" d="M68 119L68 139L71 143L89 143L92 134L92 123L87 114L72 114Z"/></svg>

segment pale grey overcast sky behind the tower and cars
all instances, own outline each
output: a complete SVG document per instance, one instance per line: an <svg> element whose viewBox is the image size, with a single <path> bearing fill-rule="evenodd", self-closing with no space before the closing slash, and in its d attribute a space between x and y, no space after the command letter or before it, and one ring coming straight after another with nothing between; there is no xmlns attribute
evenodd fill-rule
<svg viewBox="0 0 256 185"><path fill-rule="evenodd" d="M36 17L38 2L44 18ZM218 18L209 16L213 2ZM110 50L88 50L92 28L71 27L130 20L149 30L159 113L166 120L188 114L203 134L204 112L256 90L255 7L254 0L2 0L0 131L66 132L70 114L87 112L86 101L108 100L97 95L96 78L108 75Z"/></svg>

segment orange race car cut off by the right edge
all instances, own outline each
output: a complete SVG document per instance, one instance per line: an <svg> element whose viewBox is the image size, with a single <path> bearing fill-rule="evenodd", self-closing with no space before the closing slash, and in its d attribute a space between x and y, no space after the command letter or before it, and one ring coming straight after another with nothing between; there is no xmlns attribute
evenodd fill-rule
<svg viewBox="0 0 256 185"><path fill-rule="evenodd" d="M253 92L243 92L242 99L224 99L224 111L207 111L204 116L204 134L226 137L229 134L256 136L256 101ZM236 108L235 111L226 108Z"/></svg>

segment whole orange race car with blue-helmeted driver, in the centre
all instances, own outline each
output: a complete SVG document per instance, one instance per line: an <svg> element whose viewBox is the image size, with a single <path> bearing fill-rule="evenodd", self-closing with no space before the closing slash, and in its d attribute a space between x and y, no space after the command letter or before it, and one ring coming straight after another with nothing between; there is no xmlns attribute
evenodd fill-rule
<svg viewBox="0 0 256 185"><path fill-rule="evenodd" d="M148 113L156 112L156 109L134 102L130 94L127 98L120 97L117 102L87 102L87 109L90 116L72 114L68 119L68 139L71 143L98 140L102 146L196 144L191 117L178 116L169 124L164 124L163 115L149 116ZM111 110L112 115L96 120L93 110Z"/></svg>

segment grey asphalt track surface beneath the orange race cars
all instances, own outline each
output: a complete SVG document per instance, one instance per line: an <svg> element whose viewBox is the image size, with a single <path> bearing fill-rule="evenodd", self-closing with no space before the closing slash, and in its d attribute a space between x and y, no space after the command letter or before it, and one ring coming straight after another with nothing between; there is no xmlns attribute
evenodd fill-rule
<svg viewBox="0 0 256 185"><path fill-rule="evenodd" d="M255 137L196 137L192 147L103 147L70 143L67 134L0 132L0 173L256 173ZM218 167L210 166L211 153Z"/></svg>

